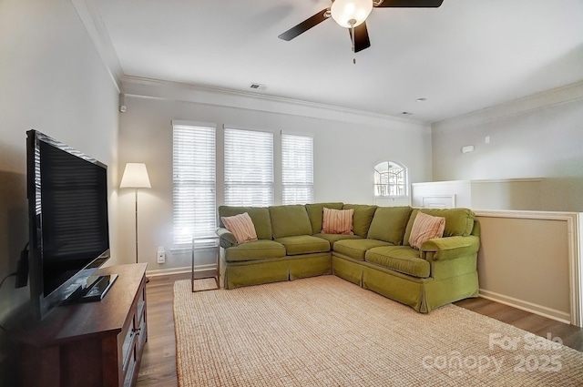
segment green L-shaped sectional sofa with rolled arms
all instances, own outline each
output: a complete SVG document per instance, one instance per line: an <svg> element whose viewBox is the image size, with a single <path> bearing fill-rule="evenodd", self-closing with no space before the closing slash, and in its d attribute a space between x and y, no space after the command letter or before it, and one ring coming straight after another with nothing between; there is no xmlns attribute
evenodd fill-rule
<svg viewBox="0 0 583 387"><path fill-rule="evenodd" d="M353 209L353 235L322 233L323 209ZM445 218L444 237L409 245L418 211ZM334 274L427 313L476 297L480 227L470 209L413 209L334 203L220 206L219 218L247 212L257 240L237 243L220 221L225 289Z"/></svg>

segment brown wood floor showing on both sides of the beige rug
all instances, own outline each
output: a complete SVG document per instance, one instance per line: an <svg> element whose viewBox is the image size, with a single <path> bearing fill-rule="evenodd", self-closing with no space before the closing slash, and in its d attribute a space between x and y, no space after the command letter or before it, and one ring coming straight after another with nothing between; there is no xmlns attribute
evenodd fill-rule
<svg viewBox="0 0 583 387"><path fill-rule="evenodd" d="M147 285L148 343L138 373L138 387L178 386L176 376L176 342L172 313L173 286L176 280L187 280L190 273L150 277ZM527 311L486 299L468 299L455 305L476 311L498 321L514 325L542 337L560 338L565 345L583 351L583 329L547 319Z"/></svg>

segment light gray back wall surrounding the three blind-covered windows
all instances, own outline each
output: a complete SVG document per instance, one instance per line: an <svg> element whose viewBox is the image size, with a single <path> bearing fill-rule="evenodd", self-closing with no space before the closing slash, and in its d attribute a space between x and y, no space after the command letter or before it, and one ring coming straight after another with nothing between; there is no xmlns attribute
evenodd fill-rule
<svg viewBox="0 0 583 387"><path fill-rule="evenodd" d="M166 82L126 80L122 91L127 112L120 116L118 168L126 162L148 166L152 188L138 192L138 251L139 260L148 262L152 273L190 266L190 251L171 251L173 119L217 125L218 205L222 204L223 125L272 131L276 144L281 131L312 135L316 201L372 204L373 167L381 160L403 163L411 181L430 178L430 129L414 121ZM277 182L281 147L274 151ZM275 204L280 202L276 194ZM120 190L119 204L120 251L130 262L135 243L133 191ZM158 246L168 252L164 264L156 262ZM211 263L214 252L209 251L197 265Z"/></svg>

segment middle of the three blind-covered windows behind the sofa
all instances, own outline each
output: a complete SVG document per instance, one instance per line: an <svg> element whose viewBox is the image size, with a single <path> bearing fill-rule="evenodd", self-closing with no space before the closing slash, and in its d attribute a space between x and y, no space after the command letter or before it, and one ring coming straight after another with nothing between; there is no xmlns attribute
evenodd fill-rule
<svg viewBox="0 0 583 387"><path fill-rule="evenodd" d="M273 134L225 128L225 204L273 205Z"/></svg>

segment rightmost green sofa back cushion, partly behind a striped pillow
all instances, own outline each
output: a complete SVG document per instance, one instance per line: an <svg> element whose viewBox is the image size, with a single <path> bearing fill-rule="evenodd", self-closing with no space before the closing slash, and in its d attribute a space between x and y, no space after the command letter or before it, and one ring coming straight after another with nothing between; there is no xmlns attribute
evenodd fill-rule
<svg viewBox="0 0 583 387"><path fill-rule="evenodd" d="M467 237L472 234L472 229L474 229L476 214L471 209L414 209L404 232L404 245L406 246L409 246L411 229L418 211L433 217L445 218L444 237Z"/></svg>

